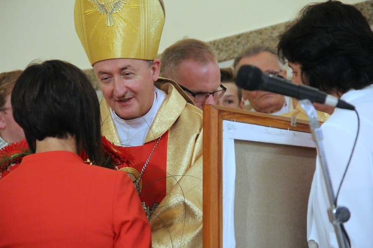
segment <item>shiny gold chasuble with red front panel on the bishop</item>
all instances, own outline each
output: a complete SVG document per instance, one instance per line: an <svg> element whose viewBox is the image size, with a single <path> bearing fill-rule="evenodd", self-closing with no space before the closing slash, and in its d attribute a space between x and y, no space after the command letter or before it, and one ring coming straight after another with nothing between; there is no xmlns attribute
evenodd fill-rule
<svg viewBox="0 0 373 248"><path fill-rule="evenodd" d="M145 144L130 148L135 156L132 166L141 173L155 147L140 185L152 245L202 247L202 111L174 81L159 78L154 85L166 92L166 99ZM102 135L120 145L105 99L100 108Z"/></svg>

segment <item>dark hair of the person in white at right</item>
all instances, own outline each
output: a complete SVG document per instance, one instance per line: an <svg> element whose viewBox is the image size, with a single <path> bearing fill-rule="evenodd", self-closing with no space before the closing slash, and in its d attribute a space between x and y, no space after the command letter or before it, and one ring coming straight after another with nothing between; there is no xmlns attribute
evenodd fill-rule
<svg viewBox="0 0 373 248"><path fill-rule="evenodd" d="M354 6L340 1L305 6L281 35L278 54L299 63L302 81L328 93L373 82L373 32Z"/></svg>

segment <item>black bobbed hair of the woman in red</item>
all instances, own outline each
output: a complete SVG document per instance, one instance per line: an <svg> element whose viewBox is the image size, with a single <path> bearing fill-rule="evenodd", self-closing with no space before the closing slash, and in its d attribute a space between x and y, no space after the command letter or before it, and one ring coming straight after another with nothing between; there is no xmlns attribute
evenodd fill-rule
<svg viewBox="0 0 373 248"><path fill-rule="evenodd" d="M31 152L36 140L75 136L77 149L101 161L99 102L82 70L60 60L30 64L11 94L14 120L24 130Z"/></svg>

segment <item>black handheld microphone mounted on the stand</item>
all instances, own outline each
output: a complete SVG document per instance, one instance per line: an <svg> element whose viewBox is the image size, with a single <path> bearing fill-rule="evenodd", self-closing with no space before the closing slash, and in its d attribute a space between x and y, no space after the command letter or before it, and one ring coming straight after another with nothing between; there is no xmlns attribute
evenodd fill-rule
<svg viewBox="0 0 373 248"><path fill-rule="evenodd" d="M244 65L240 68L236 77L236 84L246 90L264 90L298 99L309 99L332 107L355 110L355 106L338 97L320 91L308 85L291 83L282 77L266 75L254 66Z"/></svg>

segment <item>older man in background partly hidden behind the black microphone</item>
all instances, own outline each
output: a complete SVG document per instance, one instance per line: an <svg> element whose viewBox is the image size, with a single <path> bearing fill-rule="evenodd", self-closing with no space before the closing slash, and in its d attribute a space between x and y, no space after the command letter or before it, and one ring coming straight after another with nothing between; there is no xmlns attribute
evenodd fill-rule
<svg viewBox="0 0 373 248"><path fill-rule="evenodd" d="M243 65L255 66L264 73L280 75L285 79L287 76L276 51L270 47L253 46L246 49L234 60L236 74ZM280 115L290 112L297 104L296 99L262 90L242 90L242 96L250 102L245 109L268 114Z"/></svg>

